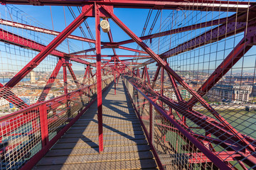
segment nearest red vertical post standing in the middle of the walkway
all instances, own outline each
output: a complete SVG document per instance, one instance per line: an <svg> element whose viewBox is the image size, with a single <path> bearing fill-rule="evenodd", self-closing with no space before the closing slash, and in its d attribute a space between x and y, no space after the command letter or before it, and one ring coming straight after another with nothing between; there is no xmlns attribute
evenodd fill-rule
<svg viewBox="0 0 256 170"><path fill-rule="evenodd" d="M100 10L99 5L95 3L95 32L96 32L96 60L97 60L97 118L99 129L99 152L103 151L103 127L102 127L102 77L101 77L101 53L100 53Z"/></svg>

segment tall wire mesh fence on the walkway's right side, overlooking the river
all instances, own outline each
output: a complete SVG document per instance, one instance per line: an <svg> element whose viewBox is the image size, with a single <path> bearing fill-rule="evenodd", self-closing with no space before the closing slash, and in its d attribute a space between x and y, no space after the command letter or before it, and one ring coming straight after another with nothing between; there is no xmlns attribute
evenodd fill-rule
<svg viewBox="0 0 256 170"><path fill-rule="evenodd" d="M255 1L225 2L184 1L171 11L144 42L172 72L161 72L153 59L139 60L137 68L146 64L151 84L142 83L144 77L127 78L164 111L157 108L154 116L154 147L166 169L217 168L166 118L231 169L255 169ZM149 107L139 110L149 100L132 93L139 114L149 113Z"/></svg>

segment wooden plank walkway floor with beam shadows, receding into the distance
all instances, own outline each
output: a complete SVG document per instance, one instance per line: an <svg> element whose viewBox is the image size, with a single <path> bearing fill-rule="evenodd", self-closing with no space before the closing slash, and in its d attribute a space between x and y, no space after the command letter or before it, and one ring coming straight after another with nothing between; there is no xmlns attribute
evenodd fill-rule
<svg viewBox="0 0 256 170"><path fill-rule="evenodd" d="M156 169L124 86L102 96L104 152L98 153L97 102L63 135L34 169Z"/></svg>

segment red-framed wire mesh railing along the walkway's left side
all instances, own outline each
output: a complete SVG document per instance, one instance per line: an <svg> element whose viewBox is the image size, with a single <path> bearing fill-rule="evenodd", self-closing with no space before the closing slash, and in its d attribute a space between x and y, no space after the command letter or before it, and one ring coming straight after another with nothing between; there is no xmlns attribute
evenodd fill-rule
<svg viewBox="0 0 256 170"><path fill-rule="evenodd" d="M112 76L102 77L102 89L112 81ZM20 169L96 96L96 84L91 84L1 117L1 169Z"/></svg>

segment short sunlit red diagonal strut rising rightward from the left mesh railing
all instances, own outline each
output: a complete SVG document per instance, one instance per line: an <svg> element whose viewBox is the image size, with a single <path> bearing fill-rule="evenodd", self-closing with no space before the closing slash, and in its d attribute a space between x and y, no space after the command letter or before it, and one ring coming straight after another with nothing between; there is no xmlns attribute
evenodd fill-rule
<svg viewBox="0 0 256 170"><path fill-rule="evenodd" d="M61 60L58 60L58 63L56 64L55 68L53 69L52 74L50 74L50 77L46 83L46 86L44 86L43 91L41 92L41 95L39 96L38 101L36 103L46 100L46 96L48 95L51 87L53 86L53 83L58 75L58 72L60 71L62 64L63 64L63 62Z"/></svg>

